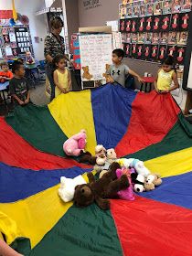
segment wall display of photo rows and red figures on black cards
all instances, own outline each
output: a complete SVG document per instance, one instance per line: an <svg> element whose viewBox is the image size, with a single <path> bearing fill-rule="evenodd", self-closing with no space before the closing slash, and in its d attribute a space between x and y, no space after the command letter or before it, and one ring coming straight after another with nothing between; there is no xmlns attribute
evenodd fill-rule
<svg viewBox="0 0 192 256"><path fill-rule="evenodd" d="M123 1L120 32L126 57L163 61L172 55L184 65L191 0Z"/></svg>

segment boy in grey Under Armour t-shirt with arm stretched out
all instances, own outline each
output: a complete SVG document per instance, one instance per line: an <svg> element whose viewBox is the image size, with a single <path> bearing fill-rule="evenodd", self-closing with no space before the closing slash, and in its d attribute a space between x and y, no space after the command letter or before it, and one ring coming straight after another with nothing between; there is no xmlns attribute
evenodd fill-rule
<svg viewBox="0 0 192 256"><path fill-rule="evenodd" d="M124 57L124 51L122 48L116 48L112 51L112 65L110 69L107 70L109 77L107 82L119 83L125 87L125 80L128 75L136 77L139 81L143 82L142 78L135 73L132 69L129 69L126 65L122 63Z"/></svg>

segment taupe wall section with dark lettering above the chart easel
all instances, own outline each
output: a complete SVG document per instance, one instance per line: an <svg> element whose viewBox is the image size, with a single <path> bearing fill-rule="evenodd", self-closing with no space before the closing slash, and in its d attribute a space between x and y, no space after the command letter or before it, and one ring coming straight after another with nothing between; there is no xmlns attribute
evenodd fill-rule
<svg viewBox="0 0 192 256"><path fill-rule="evenodd" d="M105 26L106 21L118 19L121 0L97 1L101 6L86 10L83 5L83 2L86 2L86 0L79 0L80 27Z"/></svg>

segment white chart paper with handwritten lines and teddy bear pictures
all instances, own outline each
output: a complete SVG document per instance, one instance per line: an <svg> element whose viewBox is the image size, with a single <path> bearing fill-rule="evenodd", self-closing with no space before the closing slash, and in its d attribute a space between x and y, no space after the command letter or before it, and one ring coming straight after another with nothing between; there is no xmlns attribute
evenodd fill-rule
<svg viewBox="0 0 192 256"><path fill-rule="evenodd" d="M82 35L79 41L82 89L105 84L112 64L112 34Z"/></svg>

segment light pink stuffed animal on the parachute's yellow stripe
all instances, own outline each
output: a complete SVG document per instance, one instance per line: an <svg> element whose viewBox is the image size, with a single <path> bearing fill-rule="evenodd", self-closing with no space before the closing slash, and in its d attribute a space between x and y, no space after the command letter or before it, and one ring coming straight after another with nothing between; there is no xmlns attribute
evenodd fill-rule
<svg viewBox="0 0 192 256"><path fill-rule="evenodd" d="M71 136L64 144L63 150L66 155L79 156L84 152L87 135L85 130L80 130L80 133L77 133Z"/></svg>

